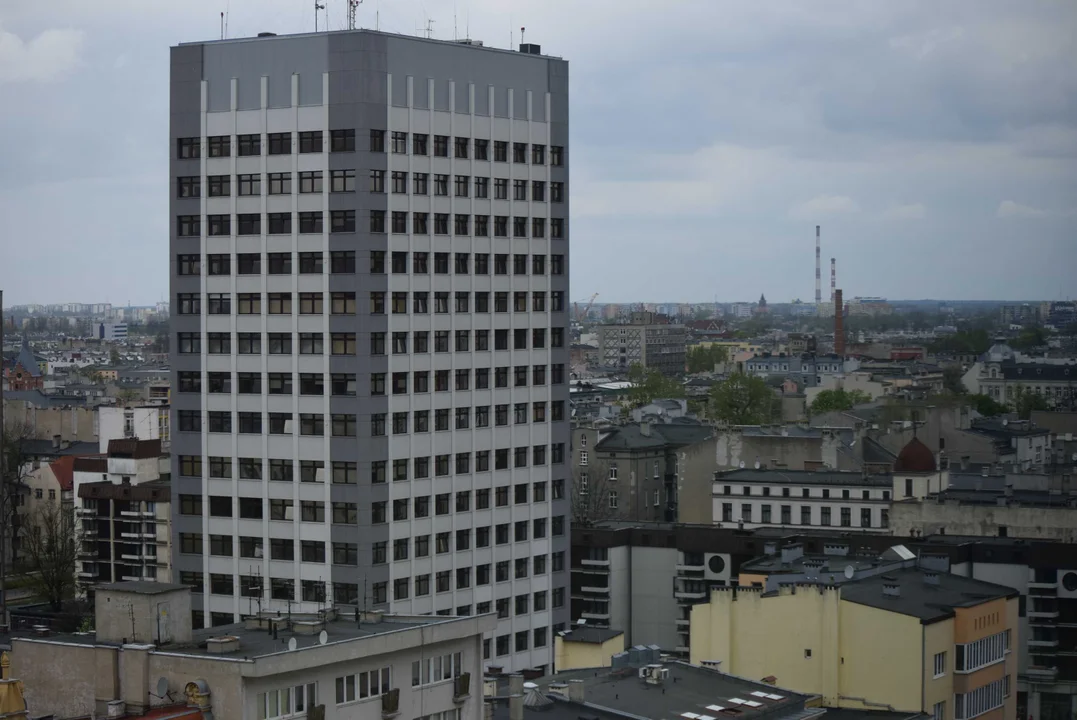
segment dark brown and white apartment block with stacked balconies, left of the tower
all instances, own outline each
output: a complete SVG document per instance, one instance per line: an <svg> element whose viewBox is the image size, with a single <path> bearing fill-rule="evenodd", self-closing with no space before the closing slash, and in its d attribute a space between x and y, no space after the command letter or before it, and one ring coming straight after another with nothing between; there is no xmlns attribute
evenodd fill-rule
<svg viewBox="0 0 1077 720"><path fill-rule="evenodd" d="M81 543L79 582L170 582L169 458L160 440L112 440L106 455L75 457L72 485Z"/></svg>

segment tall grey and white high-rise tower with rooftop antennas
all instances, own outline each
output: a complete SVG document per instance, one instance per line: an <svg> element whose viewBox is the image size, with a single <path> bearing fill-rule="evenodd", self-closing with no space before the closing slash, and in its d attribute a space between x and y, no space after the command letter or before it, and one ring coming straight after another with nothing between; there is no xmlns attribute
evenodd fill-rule
<svg viewBox="0 0 1077 720"><path fill-rule="evenodd" d="M171 55L176 577L206 625L328 604L569 617L568 63L372 31Z"/></svg>

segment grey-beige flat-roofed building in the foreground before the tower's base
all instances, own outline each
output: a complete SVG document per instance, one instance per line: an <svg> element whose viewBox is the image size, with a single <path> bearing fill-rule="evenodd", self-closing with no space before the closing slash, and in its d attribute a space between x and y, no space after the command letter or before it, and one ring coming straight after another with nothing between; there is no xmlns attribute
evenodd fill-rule
<svg viewBox="0 0 1077 720"><path fill-rule="evenodd" d="M163 582L101 585L95 632L14 636L12 669L34 717L481 717L481 636L493 616L330 608L194 629L190 593Z"/></svg>

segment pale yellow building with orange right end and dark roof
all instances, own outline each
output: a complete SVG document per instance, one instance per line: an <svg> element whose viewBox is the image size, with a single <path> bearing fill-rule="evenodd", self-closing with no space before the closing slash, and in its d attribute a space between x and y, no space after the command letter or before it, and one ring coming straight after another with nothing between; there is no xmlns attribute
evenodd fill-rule
<svg viewBox="0 0 1077 720"><path fill-rule="evenodd" d="M912 566L837 583L752 579L693 608L693 664L830 707L1016 719L1017 591Z"/></svg>

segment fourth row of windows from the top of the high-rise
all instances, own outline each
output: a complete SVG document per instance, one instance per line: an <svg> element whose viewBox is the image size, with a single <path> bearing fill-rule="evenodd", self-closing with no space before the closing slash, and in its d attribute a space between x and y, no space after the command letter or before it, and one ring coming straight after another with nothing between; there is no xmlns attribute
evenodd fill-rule
<svg viewBox="0 0 1077 720"><path fill-rule="evenodd" d="M387 263L388 255L388 263ZM529 260L530 257L530 260ZM477 274L488 276L491 272L495 276L544 276L546 274L547 259L549 274L564 274L564 255L527 255L526 253L429 253L404 251L393 251L386 253L380 250L370 251L370 274L384 274L388 271L393 274L449 274L450 269L453 274ZM181 253L176 256L176 272L180 276L198 276L202 271L202 263L206 264L206 273L210 276L230 276L233 269L236 274L256 276L262 274L292 274L298 270L299 274L322 274L325 272L324 254L321 252L302 252L296 257L288 253L237 253L235 256L228 253L210 253L202 258L196 253ZM512 270L512 272L509 272ZM355 272L354 251L334 251L330 253L330 271L336 273Z"/></svg>

